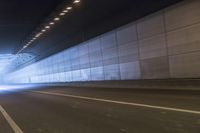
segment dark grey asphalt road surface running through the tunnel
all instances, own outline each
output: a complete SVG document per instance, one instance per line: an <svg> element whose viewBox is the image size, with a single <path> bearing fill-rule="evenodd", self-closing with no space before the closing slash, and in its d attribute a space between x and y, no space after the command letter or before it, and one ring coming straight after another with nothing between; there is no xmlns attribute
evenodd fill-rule
<svg viewBox="0 0 200 133"><path fill-rule="evenodd" d="M42 87L0 106L24 133L200 133L199 92ZM14 133L4 115L0 133Z"/></svg>

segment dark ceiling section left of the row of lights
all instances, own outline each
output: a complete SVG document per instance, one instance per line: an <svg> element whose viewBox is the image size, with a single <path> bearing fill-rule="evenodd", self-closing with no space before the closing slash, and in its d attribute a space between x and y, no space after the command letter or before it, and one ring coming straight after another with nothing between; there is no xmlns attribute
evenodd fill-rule
<svg viewBox="0 0 200 133"><path fill-rule="evenodd" d="M0 54L11 54L63 0L1 0Z"/></svg>

